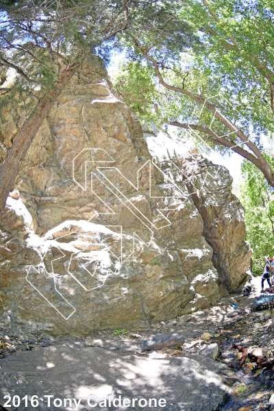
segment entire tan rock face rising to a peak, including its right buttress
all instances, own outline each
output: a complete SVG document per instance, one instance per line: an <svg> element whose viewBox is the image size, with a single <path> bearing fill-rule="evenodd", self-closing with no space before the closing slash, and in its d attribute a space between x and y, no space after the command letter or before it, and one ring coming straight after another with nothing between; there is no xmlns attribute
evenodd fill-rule
<svg viewBox="0 0 274 411"><path fill-rule="evenodd" d="M7 145L16 127L9 117ZM227 170L155 134L142 132L100 60L71 79L0 222L1 315L11 328L146 329L245 279L251 252Z"/></svg>

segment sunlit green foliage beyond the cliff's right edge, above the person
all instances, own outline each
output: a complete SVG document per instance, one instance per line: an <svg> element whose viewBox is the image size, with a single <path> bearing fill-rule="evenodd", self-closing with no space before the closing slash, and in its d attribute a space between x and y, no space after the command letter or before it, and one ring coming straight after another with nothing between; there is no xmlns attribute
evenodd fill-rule
<svg viewBox="0 0 274 411"><path fill-rule="evenodd" d="M269 155L266 158L274 167L273 158ZM256 166L246 160L242 162L242 176L237 195L245 208L247 240L253 250L251 271L262 275L264 256L274 255L274 189Z"/></svg>

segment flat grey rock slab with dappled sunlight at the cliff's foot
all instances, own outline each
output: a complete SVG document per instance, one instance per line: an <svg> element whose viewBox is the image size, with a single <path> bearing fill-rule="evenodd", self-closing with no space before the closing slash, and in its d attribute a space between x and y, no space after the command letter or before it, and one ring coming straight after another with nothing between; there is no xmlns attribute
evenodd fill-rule
<svg viewBox="0 0 274 411"><path fill-rule="evenodd" d="M36 411L66 409L56 408L52 400L51 406L47 407L45 395L62 400L75 398L79 401L81 398L81 411L92 409L87 405L90 395L96 395L98 399L108 399L110 395L112 401L119 395L122 400L155 398L157 404L159 399L166 399L166 407L151 408L155 411L213 411L231 388L222 375L234 377L234 372L225 365L199 355L153 360L119 356L99 347L71 345L22 351L1 360L0 365L1 405L8 393L21 398L38 395L43 401L38 401ZM19 380L21 384L16 384ZM136 405L130 408L97 406L94 409L123 411L137 409ZM32 407L28 409L32 410Z"/></svg>

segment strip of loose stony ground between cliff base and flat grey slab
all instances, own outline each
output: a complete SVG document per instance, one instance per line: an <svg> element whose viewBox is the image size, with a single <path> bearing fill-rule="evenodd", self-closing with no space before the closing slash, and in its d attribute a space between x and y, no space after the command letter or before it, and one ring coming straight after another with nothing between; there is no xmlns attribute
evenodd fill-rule
<svg viewBox="0 0 274 411"><path fill-rule="evenodd" d="M95 332L86 338L66 336L53 338L47 334L40 336L23 336L10 332L4 325L0 328L0 356L12 356L16 351L32 350L34 347L49 345L73 344L77 347L95 346L121 356L129 354L142 358L169 358L171 356L196 356L204 345L201 336L204 332L211 335L209 343L218 345L216 361L226 364L236 371L236 384L232 382L229 397L219 410L253 411L270 410L274 393L274 373L256 364L256 360L247 358L240 366L242 353L233 349L232 345L240 345L251 349L261 347L271 350L274 343L274 324L270 310L252 311L254 299L260 294L259 279L253 280L253 292L249 297L233 295L222 299L216 306L192 315L184 315L169 323L151 325L151 331L130 332L116 329L112 332ZM232 308L231 303L238 305ZM185 343L178 349L158 349L157 351L140 352L142 340L160 334L177 333L185 338ZM203 337L204 338L204 337ZM199 342L197 342L199 340ZM195 345L193 345L196 343ZM193 347L190 348L190 345ZM194 358L194 357L193 357ZM274 397L274 396L273 396ZM271 399L270 399L271 398ZM271 402L270 402L271 401ZM274 401L274 398L273 398ZM274 408L274 404L273 404Z"/></svg>

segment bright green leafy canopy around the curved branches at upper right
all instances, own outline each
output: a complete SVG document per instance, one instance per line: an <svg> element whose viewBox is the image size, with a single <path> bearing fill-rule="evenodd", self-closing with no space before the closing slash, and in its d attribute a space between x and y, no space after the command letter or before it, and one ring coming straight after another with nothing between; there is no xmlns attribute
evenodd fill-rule
<svg viewBox="0 0 274 411"><path fill-rule="evenodd" d="M178 21L187 20L199 32L199 41L192 36L188 49L182 42L177 51L171 45L167 55L157 42L138 40L138 62L132 63L127 55L114 79L116 88L142 121L153 120L162 128L179 122L179 134L195 138L205 150L227 152L219 137L212 141L217 135L248 151L223 121L215 117L212 122L212 112L199 104L199 98L206 99L262 150L262 133L269 134L274 127L273 3L217 0L208 4L186 0L176 11ZM186 92L163 86L145 54L155 59L166 84ZM189 132L189 123L212 129L213 134L197 129Z"/></svg>

